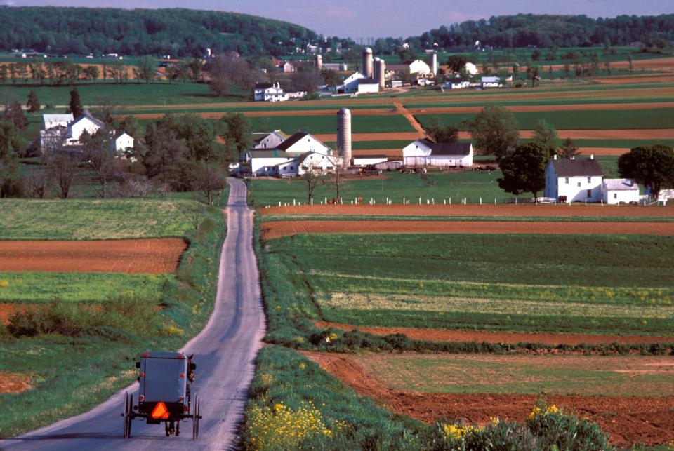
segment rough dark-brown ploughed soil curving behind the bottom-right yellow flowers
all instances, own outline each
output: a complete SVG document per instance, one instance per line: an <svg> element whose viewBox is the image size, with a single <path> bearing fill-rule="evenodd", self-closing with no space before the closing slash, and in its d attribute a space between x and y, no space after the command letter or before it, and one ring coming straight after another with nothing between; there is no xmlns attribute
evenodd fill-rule
<svg viewBox="0 0 674 451"><path fill-rule="evenodd" d="M345 354L303 352L321 368L370 396L393 412L432 424L437 419L463 418L487 424L489 417L524 422L540 396L513 394L421 393L390 389L378 382L355 358ZM591 357L588 357L591 358ZM601 365L597 361L597 365ZM674 440L674 397L548 396L548 403L574 410L609 433L614 445L661 445Z"/></svg>

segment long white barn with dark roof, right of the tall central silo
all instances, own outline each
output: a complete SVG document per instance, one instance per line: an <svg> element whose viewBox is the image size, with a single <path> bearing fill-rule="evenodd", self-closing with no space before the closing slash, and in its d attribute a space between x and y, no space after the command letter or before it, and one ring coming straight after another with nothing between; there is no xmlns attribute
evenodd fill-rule
<svg viewBox="0 0 674 451"><path fill-rule="evenodd" d="M432 142L416 140L402 149L405 166L473 166L473 144L470 142Z"/></svg>

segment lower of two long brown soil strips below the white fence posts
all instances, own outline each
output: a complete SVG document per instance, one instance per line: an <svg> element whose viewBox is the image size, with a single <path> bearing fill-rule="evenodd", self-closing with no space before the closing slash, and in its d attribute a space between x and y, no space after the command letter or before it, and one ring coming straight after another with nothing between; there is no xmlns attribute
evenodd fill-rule
<svg viewBox="0 0 674 451"><path fill-rule="evenodd" d="M643 234L674 236L667 222L275 221L263 240L295 234Z"/></svg>

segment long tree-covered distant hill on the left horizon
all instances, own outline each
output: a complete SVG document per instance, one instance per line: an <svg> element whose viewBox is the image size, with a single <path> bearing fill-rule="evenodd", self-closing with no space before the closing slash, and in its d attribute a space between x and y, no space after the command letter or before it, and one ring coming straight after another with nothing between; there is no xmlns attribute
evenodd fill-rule
<svg viewBox="0 0 674 451"><path fill-rule="evenodd" d="M0 6L0 50L201 56L286 55L315 41L299 25L254 15L189 9Z"/></svg>

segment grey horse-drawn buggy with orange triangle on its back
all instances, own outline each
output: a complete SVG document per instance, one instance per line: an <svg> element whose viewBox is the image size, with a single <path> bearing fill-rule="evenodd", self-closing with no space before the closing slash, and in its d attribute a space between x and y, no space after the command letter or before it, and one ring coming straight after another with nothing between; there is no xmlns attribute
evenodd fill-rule
<svg viewBox="0 0 674 451"><path fill-rule="evenodd" d="M166 436L180 435L180 421L192 419L192 440L199 436L199 398L192 393L197 365L192 356L173 352L146 352L136 362L140 369L138 405L133 405L133 394L124 399L124 438L131 436L131 421L145 418L147 424L164 422Z"/></svg>

